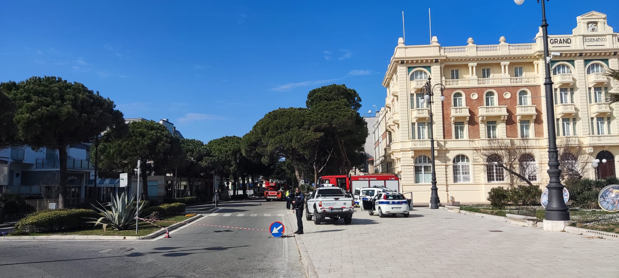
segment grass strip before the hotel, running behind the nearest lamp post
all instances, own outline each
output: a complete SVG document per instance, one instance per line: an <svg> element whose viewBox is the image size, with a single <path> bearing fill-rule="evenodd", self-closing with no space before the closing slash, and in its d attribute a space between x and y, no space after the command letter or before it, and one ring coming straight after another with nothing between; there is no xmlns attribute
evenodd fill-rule
<svg viewBox="0 0 619 278"><path fill-rule="evenodd" d="M474 213L493 214L497 216L505 216L507 213L516 213L518 208L535 208L535 216L538 221L542 221L545 217L545 209L543 206L506 206L504 209L493 209L490 204L472 204L461 205L463 211L472 211ZM591 230L602 230L604 232L619 233L619 213L609 213L601 209L582 209L579 211L569 211L569 218L572 225Z"/></svg>

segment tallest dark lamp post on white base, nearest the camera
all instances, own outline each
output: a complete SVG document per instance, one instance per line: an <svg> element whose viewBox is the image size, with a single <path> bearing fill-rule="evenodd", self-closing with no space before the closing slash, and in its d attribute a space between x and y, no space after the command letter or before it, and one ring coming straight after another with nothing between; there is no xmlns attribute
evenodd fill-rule
<svg viewBox="0 0 619 278"><path fill-rule="evenodd" d="M548 0L547 0L548 1ZM524 0L514 0L516 4L521 5ZM537 0L539 3L540 1ZM543 85L545 85L546 92L546 122L548 125L548 175L550 181L546 188L548 188L548 205L546 206L544 230L556 230L561 231L565 227L565 221L569 221L569 211L565 202L563 201L563 185L561 184L561 169L559 169L558 151L556 150L556 133L555 133L555 104L552 98L552 78L550 78L550 59L548 56L548 23L546 22L546 7L545 1L542 0L542 40L543 40L543 57L546 71L546 78ZM553 53L553 56L555 53ZM564 222L564 227L561 225L552 224L552 222ZM548 225L547 225L548 224ZM548 227L547 227L548 226ZM553 229L554 228L554 229Z"/></svg>

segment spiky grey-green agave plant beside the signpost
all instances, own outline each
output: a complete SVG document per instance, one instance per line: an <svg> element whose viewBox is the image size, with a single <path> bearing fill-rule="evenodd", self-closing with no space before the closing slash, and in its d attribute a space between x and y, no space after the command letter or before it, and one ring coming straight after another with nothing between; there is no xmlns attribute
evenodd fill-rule
<svg viewBox="0 0 619 278"><path fill-rule="evenodd" d="M136 208L133 195L129 196L123 192L121 195L117 194L110 203L99 203L99 206L93 206L103 214L103 217L89 218L94 220L89 223L94 223L95 227L102 224L103 232L108 225L114 230L128 230L136 227ZM141 211L144 206L145 203L140 202L139 210Z"/></svg>

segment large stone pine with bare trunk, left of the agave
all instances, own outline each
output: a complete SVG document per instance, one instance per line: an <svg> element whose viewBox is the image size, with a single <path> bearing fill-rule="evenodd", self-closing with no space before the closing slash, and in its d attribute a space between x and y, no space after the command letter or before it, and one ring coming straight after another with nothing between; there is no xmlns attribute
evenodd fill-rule
<svg viewBox="0 0 619 278"><path fill-rule="evenodd" d="M67 146L90 143L106 130L125 130L123 113L82 83L59 77L32 77L22 82L0 83L15 103L16 139L32 148L58 150L60 161L59 207L67 196ZM123 132L112 132L121 137Z"/></svg>

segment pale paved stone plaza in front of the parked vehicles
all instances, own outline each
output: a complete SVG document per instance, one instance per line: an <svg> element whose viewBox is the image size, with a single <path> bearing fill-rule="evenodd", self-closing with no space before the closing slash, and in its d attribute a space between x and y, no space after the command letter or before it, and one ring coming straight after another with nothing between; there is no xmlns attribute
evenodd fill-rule
<svg viewBox="0 0 619 278"><path fill-rule="evenodd" d="M619 242L441 209L415 208L409 218L356 211L349 225L303 221L297 237L320 278L619 276Z"/></svg>

